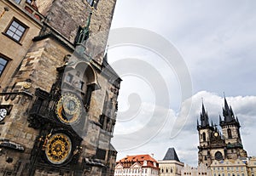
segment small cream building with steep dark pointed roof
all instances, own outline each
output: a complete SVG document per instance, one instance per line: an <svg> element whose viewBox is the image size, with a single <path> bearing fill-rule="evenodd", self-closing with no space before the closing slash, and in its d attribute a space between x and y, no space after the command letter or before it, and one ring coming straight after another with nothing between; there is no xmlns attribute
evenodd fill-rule
<svg viewBox="0 0 256 176"><path fill-rule="evenodd" d="M160 176L180 176L184 163L180 162L174 148L169 148L163 160L158 161Z"/></svg>

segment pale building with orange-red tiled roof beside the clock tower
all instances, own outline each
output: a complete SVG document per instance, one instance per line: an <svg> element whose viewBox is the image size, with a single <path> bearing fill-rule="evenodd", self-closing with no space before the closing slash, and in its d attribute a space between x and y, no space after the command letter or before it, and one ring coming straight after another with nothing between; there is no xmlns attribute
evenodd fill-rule
<svg viewBox="0 0 256 176"><path fill-rule="evenodd" d="M114 176L158 176L159 163L149 155L126 156L116 162Z"/></svg>

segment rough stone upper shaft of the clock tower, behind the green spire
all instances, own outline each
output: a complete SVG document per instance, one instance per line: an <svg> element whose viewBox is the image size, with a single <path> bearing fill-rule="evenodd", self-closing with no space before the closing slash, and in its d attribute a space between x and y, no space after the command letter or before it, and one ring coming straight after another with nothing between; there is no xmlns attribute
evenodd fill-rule
<svg viewBox="0 0 256 176"><path fill-rule="evenodd" d="M47 0L45 3L38 2L38 7L46 16L45 21L49 26L60 32L71 43L74 43L79 26L86 26L92 11L90 39L86 43L87 53L101 65L115 3L116 0L99 0L96 9L92 9L85 0Z"/></svg>

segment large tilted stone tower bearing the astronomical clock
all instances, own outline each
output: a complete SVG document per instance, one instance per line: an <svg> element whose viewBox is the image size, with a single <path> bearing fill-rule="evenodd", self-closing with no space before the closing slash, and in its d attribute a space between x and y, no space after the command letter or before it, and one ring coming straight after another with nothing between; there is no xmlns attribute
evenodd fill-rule
<svg viewBox="0 0 256 176"><path fill-rule="evenodd" d="M115 3L37 1L41 31L0 94L3 174L113 175L121 79L104 52Z"/></svg>

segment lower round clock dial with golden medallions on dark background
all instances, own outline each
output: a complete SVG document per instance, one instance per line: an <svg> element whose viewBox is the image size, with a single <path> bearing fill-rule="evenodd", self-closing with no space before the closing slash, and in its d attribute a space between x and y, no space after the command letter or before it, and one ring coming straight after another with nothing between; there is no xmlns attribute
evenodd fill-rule
<svg viewBox="0 0 256 176"><path fill-rule="evenodd" d="M52 135L46 145L45 155L49 162L61 164L66 162L72 150L70 138L64 133Z"/></svg>

